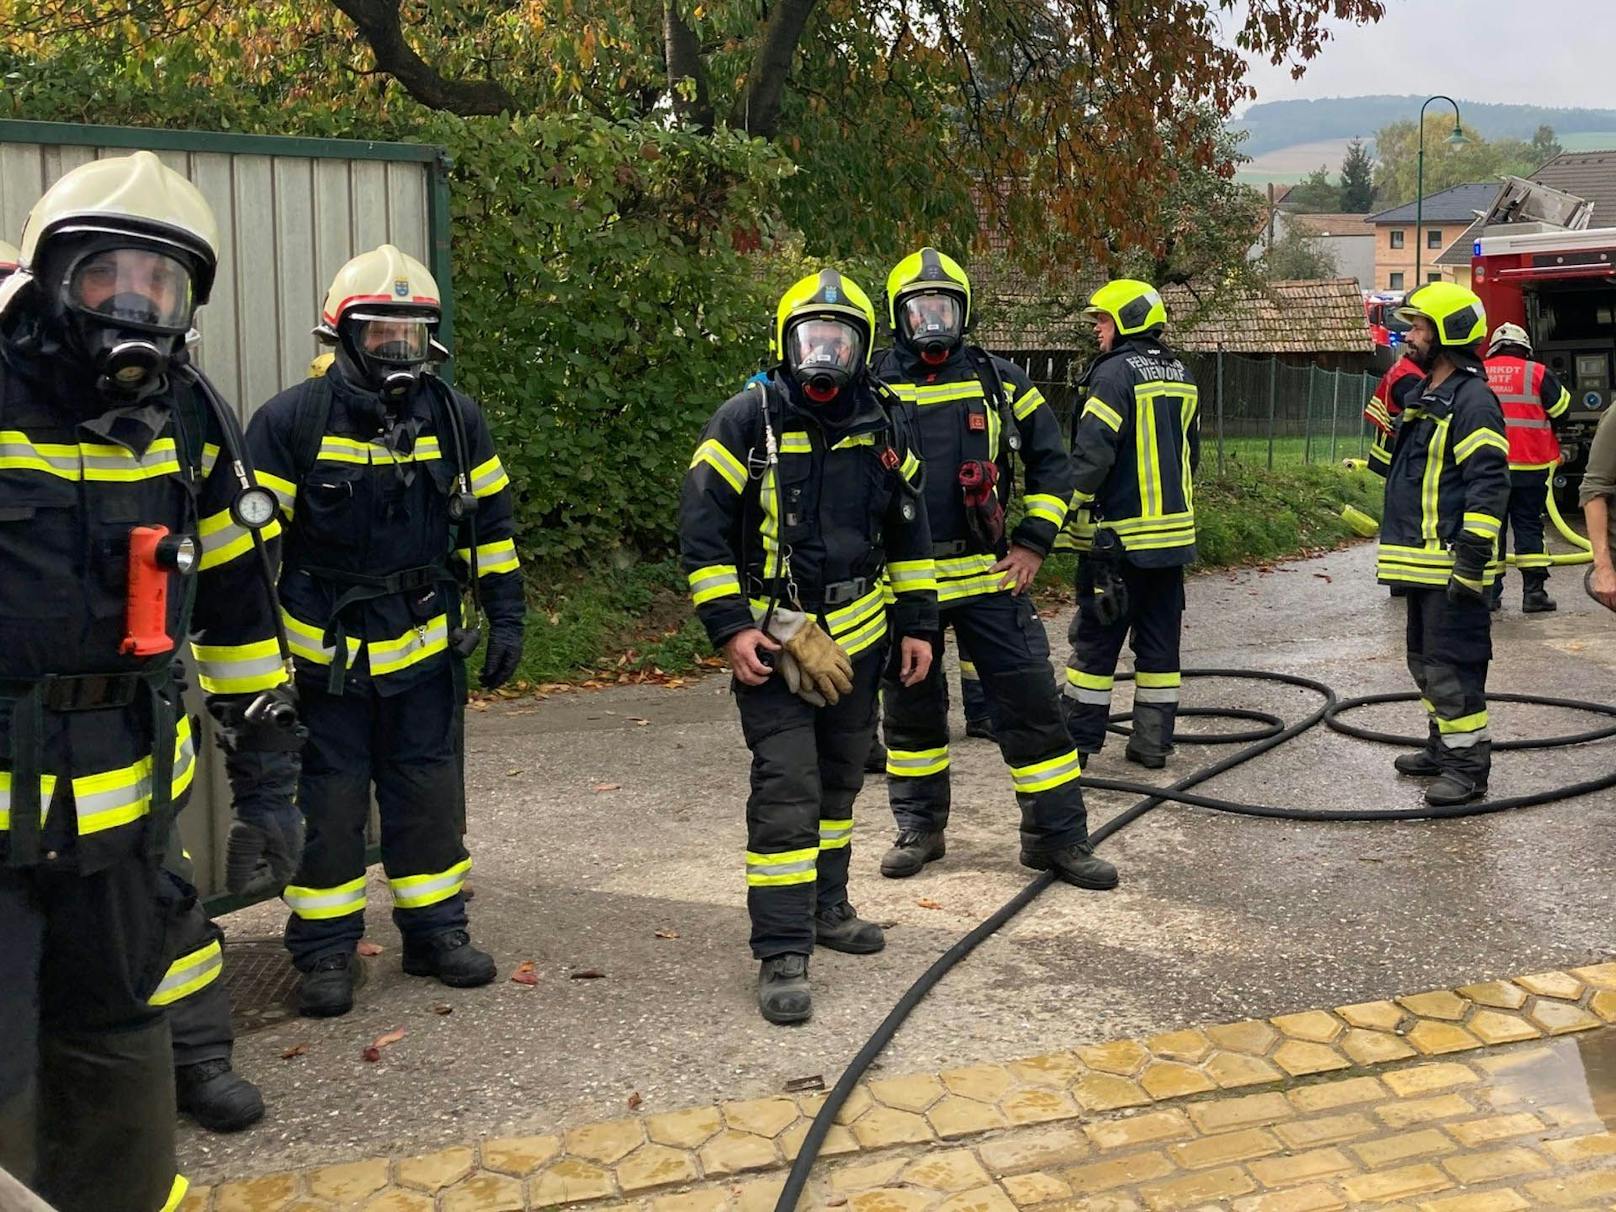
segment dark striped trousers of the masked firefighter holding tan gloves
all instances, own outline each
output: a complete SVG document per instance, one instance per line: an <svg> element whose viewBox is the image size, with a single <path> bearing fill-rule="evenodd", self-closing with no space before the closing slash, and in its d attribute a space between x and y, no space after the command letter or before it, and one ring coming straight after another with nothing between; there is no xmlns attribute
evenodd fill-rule
<svg viewBox="0 0 1616 1212"><path fill-rule="evenodd" d="M847 900L853 800L876 729L886 645L853 658L853 688L816 708L779 674L734 682L740 730L751 750L747 797L747 911L751 953L810 955L818 908Z"/></svg>

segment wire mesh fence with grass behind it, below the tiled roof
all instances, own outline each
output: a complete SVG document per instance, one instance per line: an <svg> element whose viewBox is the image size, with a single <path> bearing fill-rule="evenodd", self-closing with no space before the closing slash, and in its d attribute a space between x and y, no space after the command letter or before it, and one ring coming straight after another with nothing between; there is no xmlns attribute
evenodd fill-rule
<svg viewBox="0 0 1616 1212"><path fill-rule="evenodd" d="M1079 360L1010 354L1044 393L1065 425L1078 407ZM1181 354L1201 388L1201 465L1222 473L1230 461L1246 467L1286 467L1361 459L1372 430L1364 404L1377 375L1291 365L1272 357Z"/></svg>

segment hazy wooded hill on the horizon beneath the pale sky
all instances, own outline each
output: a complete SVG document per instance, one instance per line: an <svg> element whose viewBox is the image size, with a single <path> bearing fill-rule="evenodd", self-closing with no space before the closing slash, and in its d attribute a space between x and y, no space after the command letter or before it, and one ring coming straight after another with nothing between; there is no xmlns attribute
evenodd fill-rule
<svg viewBox="0 0 1616 1212"><path fill-rule="evenodd" d="M1283 100L1252 105L1228 128L1246 131L1241 150L1249 157L1275 152L1296 144L1319 144L1335 139L1370 139L1382 126L1399 120L1412 121L1424 97L1328 97L1325 100ZM1438 108L1440 107L1440 108ZM1451 110L1437 102L1425 115ZM1464 126L1488 139L1530 139L1538 126L1553 126L1555 134L1582 131L1616 131L1616 110L1553 110L1543 105L1487 105L1459 97Z"/></svg>

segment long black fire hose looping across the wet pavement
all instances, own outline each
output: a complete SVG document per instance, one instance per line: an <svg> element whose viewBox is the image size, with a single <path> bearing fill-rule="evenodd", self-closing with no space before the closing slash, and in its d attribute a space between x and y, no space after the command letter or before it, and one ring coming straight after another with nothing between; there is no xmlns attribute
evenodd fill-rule
<svg viewBox="0 0 1616 1212"><path fill-rule="evenodd" d="M1222 761L1217 761L1204 769L1199 769L1168 787L1154 787L1143 782L1128 782L1125 779L1091 779L1084 776L1083 784L1086 787L1094 787L1097 790L1113 790L1113 792L1133 792L1143 795L1144 798L1134 803L1131 808L1113 816L1110 821L1096 829L1091 840L1099 847L1112 834L1122 832L1130 824L1138 821L1152 808L1164 803L1185 803L1193 808L1210 808L1220 813L1235 813L1239 816L1264 816L1280 821L1437 821L1456 816L1483 816L1487 813L1501 813L1511 808L1530 808L1535 805L1553 803L1556 800L1569 800L1577 795L1589 795L1590 792L1600 792L1608 787L1616 787L1616 771L1598 777L1587 779L1584 782L1574 782L1566 787L1556 787L1547 792L1534 792L1530 795L1508 795L1500 800L1479 800L1475 803L1453 805L1448 808L1375 808L1367 811L1346 811L1346 810L1319 810L1319 808L1277 808L1257 803L1238 803L1235 800L1220 800L1210 795L1194 795L1189 789L1207 782L1209 779L1223 774L1235 766L1251 761L1262 753L1267 753L1278 745L1299 737L1302 732L1324 722L1327 727L1343 732L1349 737L1359 737L1361 740L1374 740L1383 745L1403 745L1408 748L1417 748L1425 743L1424 737L1401 737L1393 732L1375 732L1372 729L1362 729L1353 724L1346 724L1340 716L1354 708L1372 706L1378 703L1409 703L1416 701L1419 695L1414 693L1393 693L1393 695L1361 695L1357 698L1340 700L1324 682L1317 682L1311 677L1299 677L1296 674L1280 674L1267 672L1260 669L1185 669L1185 677L1235 677L1248 679L1256 682L1280 682L1283 685L1299 687L1302 690L1312 690L1324 698L1324 703L1314 709L1309 716L1298 721L1296 724L1286 726L1278 716L1269 714L1265 711L1251 711L1246 708L1180 708L1180 718L1222 718L1222 719L1243 719L1260 724L1262 727L1246 730L1246 732L1230 732L1222 735L1185 735L1175 737L1178 743L1188 745L1241 745L1246 748L1233 753ZM1118 674L1118 682L1131 680L1131 674ZM1492 703L1529 703L1534 706L1551 706L1564 708L1569 711L1585 711L1590 714L1610 716L1616 721L1616 705L1608 703L1587 703L1576 698L1550 698L1545 695L1511 695L1511 693L1492 693L1487 696ZM1120 713L1112 716L1112 732L1126 732L1122 727L1122 721L1128 719L1130 713ZM1616 737L1616 722L1605 727L1589 729L1587 732L1569 734L1564 737L1545 737L1538 740L1504 740L1495 742L1493 750L1542 750L1542 748L1558 748L1563 745L1584 745L1593 740L1605 740L1606 737ZM898 999L897 1005L881 1020L874 1034L865 1042L858 1054L848 1062L847 1070L837 1079L835 1086L831 1088L831 1094L826 1097L824 1104L819 1107L819 1113L814 1115L813 1123L808 1126L808 1134L803 1138L802 1149L797 1152L797 1159L792 1162L792 1170L785 1178L785 1186L781 1189L781 1196L774 1204L774 1212L795 1212L803 1191L808 1186L808 1175L813 1170L813 1164L819 1157L819 1149L824 1146L824 1138L831 1131L831 1125L835 1123L835 1117L840 1113L842 1105L852 1096L853 1088L858 1084L860 1078L869 1065L881 1055L886 1046L897 1034L898 1028L910 1016L921 999L932 991L932 987L952 970L960 960L976 950L989 936L999 931L1007 921L1010 921L1016 913L1031 905L1037 895L1055 882L1055 876L1049 871L1036 876L1028 882L1020 892L1016 892L1010 900L999 907L992 916L971 929L970 934L962 937L949 950L937 957L937 960L920 974L920 978L911 984L905 994Z"/></svg>

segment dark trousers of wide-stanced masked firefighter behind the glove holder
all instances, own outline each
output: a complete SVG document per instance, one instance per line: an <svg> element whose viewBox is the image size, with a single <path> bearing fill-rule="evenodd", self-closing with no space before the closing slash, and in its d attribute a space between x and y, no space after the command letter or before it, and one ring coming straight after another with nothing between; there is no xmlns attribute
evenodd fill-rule
<svg viewBox="0 0 1616 1212"><path fill-rule="evenodd" d="M1021 808L1021 848L1041 853L1088 840L1078 755L1060 724L1049 637L1026 596L989 593L942 608L981 679L999 751ZM881 690L887 740L887 797L898 829L941 832L949 824L949 680L942 632L931 672L913 687Z"/></svg>

